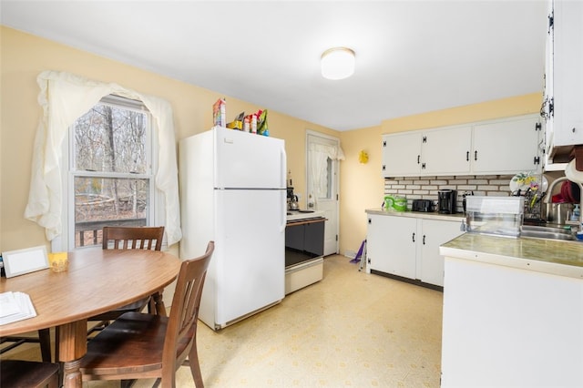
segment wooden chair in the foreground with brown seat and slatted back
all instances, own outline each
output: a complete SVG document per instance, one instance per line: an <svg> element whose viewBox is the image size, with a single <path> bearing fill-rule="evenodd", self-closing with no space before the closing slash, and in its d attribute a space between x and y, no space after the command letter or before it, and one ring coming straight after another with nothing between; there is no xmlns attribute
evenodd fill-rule
<svg viewBox="0 0 583 388"><path fill-rule="evenodd" d="M98 333L81 359L83 381L156 378L162 387L174 387L179 366L189 364L196 386L202 387L196 334L213 251L210 241L204 255L182 262L169 317L127 312Z"/></svg>

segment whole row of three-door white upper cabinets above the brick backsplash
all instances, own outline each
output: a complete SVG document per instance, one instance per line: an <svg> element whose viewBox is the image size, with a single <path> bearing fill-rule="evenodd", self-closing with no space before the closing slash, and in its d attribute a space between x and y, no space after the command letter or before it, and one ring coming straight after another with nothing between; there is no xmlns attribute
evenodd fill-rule
<svg viewBox="0 0 583 388"><path fill-rule="evenodd" d="M383 175L390 177L516 174L540 171L538 115L383 136Z"/></svg>

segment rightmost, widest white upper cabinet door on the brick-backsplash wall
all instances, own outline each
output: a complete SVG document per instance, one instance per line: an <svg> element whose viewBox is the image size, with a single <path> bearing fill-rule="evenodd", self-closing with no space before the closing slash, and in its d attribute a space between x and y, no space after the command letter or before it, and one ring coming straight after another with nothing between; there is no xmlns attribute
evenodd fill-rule
<svg viewBox="0 0 583 388"><path fill-rule="evenodd" d="M516 174L542 166L537 115L510 118L474 127L470 155L476 174Z"/></svg>

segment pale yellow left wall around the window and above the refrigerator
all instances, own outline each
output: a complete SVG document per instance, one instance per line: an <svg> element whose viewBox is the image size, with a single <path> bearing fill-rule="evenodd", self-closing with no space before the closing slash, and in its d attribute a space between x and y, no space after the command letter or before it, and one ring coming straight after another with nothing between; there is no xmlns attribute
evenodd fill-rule
<svg viewBox="0 0 583 388"><path fill-rule="evenodd" d="M41 110L36 102L36 76L44 70L67 71L169 100L174 110L176 137L207 130L212 124L212 104L224 97L169 77L62 46L36 36L0 26L0 251L46 244L45 232L24 219L36 126ZM260 108L227 98L227 116ZM328 128L269 111L271 136L286 142L288 168L294 186L305 191L305 132L307 128L338 137ZM303 204L302 204L303 207Z"/></svg>

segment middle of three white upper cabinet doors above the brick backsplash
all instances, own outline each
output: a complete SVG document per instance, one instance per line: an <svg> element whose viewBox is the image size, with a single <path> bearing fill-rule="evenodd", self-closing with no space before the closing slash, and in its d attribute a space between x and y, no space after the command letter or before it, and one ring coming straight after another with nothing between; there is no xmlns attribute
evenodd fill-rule
<svg viewBox="0 0 583 388"><path fill-rule="evenodd" d="M421 147L423 175L460 175L470 172L472 128L451 127L427 131Z"/></svg>

